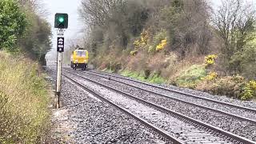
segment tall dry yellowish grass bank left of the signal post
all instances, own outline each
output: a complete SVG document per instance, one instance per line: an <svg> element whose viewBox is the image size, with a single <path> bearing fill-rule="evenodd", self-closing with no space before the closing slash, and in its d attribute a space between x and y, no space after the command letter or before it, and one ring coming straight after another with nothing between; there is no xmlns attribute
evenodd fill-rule
<svg viewBox="0 0 256 144"><path fill-rule="evenodd" d="M49 124L50 98L37 63L0 51L0 143L37 143Z"/></svg>

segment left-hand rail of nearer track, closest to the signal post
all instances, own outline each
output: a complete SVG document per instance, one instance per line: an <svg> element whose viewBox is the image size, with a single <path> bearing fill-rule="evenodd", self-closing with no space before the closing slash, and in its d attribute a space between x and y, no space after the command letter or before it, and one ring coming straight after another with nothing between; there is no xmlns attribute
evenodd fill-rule
<svg viewBox="0 0 256 144"><path fill-rule="evenodd" d="M80 83L75 82L72 78L69 78L68 76L66 76L65 74L62 74L65 78L69 79L71 82L74 82L76 85L80 86L82 89L88 91L90 94L93 94L96 98L99 98L100 100L102 100L102 102L106 102L109 103L111 106L114 106L115 108L117 108L118 110L121 110L123 113L127 114L128 116L130 116L131 118L134 118L135 120L137 120L138 122L141 122L144 126L147 126L148 128L150 128L151 130L154 130L157 134L162 135L163 138L166 138L168 141L174 143L174 144L182 144L182 142L180 142L177 138L174 138L173 136L171 136L170 134L167 134L164 130L160 130L158 129L158 127L155 127L153 125L151 125L149 122L146 122L145 120L143 120L142 118L137 117L136 115L130 113L128 110L123 109L122 107L114 104L113 102L110 102L109 100L107 100L106 98L103 98L100 94L97 94L94 90L91 90L90 88L86 87L86 86L82 86Z"/></svg>

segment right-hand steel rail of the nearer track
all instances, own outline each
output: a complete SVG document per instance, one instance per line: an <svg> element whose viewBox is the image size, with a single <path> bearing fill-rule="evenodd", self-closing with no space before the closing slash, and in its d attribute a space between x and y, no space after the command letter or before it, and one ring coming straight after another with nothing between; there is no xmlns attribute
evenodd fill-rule
<svg viewBox="0 0 256 144"><path fill-rule="evenodd" d="M74 74L73 72L70 72L70 71L67 71L67 70L64 70L64 71L66 71L69 74ZM255 143L255 142L251 141L250 139L243 138L243 137L238 136L236 134L232 134L232 133L230 133L230 132L228 132L226 130L222 130L222 129L216 127L216 126L211 126L211 125L207 124L206 122L201 122L201 121L198 121L197 119L190 118L190 117L188 117L188 116L186 116L184 114L180 114L178 112L175 112L174 110L166 109L165 107L158 106L158 105L156 105L154 103L151 103L151 102L146 102L145 100L143 100L141 98L136 98L136 97L134 97L131 94L127 94L125 92L122 92L121 90L116 90L116 89L114 89L111 86L107 86L107 85L102 84L100 82L96 82L96 81L94 81L94 80L92 80L90 78L86 78L86 77L84 77L84 76L82 76L80 74L74 74L74 75L76 75L76 76L78 76L80 78L84 78L84 79L88 80L89 82L93 82L93 83L97 84L98 86L103 86L103 87L105 87L105 88L107 88L109 90L114 90L118 94L123 94L123 95L125 95L128 98L133 98L133 99L135 99L135 100L137 100L139 102L146 103L147 105L153 106L154 108L157 108L158 110L165 111L167 114L175 115L178 118L182 118L182 119L184 119L187 122L192 122L192 123L194 123L198 127L204 127L204 128L206 128L206 130L212 130L216 134L221 134L223 137L227 137L227 139L231 139L231 142L236 142L236 143L241 143L242 142L242 143L245 143L245 144L254 144ZM74 80L72 80L72 81L74 82ZM79 84L79 86L82 86L82 85Z"/></svg>

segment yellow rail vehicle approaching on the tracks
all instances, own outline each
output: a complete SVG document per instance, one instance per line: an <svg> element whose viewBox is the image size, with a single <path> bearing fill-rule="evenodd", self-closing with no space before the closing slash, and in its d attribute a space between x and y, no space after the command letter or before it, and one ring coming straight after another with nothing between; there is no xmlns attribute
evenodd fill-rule
<svg viewBox="0 0 256 144"><path fill-rule="evenodd" d="M87 50L74 50L71 54L71 68L77 70L78 68L86 70L88 67L89 53Z"/></svg>

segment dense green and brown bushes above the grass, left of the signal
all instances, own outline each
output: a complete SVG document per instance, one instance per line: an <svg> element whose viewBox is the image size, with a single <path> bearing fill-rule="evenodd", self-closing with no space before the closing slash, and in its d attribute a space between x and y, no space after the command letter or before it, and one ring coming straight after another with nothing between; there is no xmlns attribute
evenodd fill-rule
<svg viewBox="0 0 256 144"><path fill-rule="evenodd" d="M32 7L37 1L0 1L0 50L26 53L44 62L51 48L50 24Z"/></svg>

